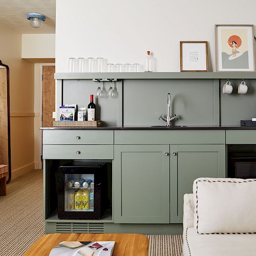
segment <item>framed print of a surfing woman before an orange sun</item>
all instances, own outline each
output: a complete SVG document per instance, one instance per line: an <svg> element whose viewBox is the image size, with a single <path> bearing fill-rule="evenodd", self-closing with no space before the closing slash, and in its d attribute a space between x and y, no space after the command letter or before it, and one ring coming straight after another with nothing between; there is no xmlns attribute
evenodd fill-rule
<svg viewBox="0 0 256 256"><path fill-rule="evenodd" d="M253 25L215 25L216 70L255 72Z"/></svg>

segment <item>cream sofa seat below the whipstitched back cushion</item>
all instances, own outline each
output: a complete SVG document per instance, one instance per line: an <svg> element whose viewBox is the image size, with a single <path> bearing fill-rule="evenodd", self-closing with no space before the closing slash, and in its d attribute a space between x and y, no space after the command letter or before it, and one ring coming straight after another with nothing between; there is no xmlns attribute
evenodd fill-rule
<svg viewBox="0 0 256 256"><path fill-rule="evenodd" d="M183 256L255 256L256 234L198 234L184 230Z"/></svg>

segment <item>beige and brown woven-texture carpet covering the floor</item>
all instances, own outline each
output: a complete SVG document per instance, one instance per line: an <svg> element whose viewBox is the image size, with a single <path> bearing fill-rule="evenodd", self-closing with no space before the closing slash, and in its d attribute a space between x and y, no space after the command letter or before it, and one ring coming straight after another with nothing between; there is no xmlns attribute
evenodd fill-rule
<svg viewBox="0 0 256 256"><path fill-rule="evenodd" d="M34 170L12 180L7 184L7 196L0 197L0 255L23 255L44 234L42 171ZM147 237L150 240L148 255L182 255L181 235L152 234Z"/></svg>

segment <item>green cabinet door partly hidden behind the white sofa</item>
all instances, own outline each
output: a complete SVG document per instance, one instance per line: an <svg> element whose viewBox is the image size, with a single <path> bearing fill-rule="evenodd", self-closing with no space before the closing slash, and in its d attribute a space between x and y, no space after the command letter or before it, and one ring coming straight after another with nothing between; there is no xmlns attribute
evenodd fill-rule
<svg viewBox="0 0 256 256"><path fill-rule="evenodd" d="M182 223L183 197L195 179L225 175L225 145L170 145L170 222Z"/></svg>

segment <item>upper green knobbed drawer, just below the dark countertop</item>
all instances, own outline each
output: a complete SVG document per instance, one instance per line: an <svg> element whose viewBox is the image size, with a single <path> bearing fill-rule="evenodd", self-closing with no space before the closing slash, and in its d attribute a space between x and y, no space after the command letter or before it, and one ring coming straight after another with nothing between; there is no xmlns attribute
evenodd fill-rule
<svg viewBox="0 0 256 256"><path fill-rule="evenodd" d="M114 131L45 130L42 143L57 145L114 144Z"/></svg>

